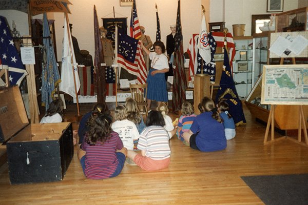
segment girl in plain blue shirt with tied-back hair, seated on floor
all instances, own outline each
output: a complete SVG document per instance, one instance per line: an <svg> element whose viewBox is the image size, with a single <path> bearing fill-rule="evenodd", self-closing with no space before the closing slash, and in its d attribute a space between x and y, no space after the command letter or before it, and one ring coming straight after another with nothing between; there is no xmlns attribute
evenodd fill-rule
<svg viewBox="0 0 308 205"><path fill-rule="evenodd" d="M201 112L192 122L190 130L183 133L192 149L202 152L223 150L227 146L223 119L220 117L214 101L204 97L198 105Z"/></svg>

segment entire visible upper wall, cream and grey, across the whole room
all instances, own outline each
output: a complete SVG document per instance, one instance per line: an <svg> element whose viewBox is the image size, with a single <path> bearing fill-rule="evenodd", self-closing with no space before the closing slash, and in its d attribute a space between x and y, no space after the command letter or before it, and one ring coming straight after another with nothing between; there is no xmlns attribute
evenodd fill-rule
<svg viewBox="0 0 308 205"><path fill-rule="evenodd" d="M73 24L73 35L78 39L80 49L85 49L94 56L94 29L93 29L93 5L96 5L98 17L113 17L113 6L115 17L128 17L129 25L131 7L120 7L119 0L70 0L71 14L69 14L70 23ZM152 41L155 41L156 35L156 12L155 3L158 6L161 36L163 42L166 41L166 35L170 33L169 25L176 23L177 0L136 0L137 11L140 24L146 29ZM223 4L225 4L226 27L230 32L233 24L245 24L245 35L251 35L251 16L252 14L266 14L267 0L209 0L209 19L207 22L223 21ZM181 0L181 22L183 32L184 51L186 51L189 39L192 33L199 33L201 23L201 2L204 0ZM284 0L284 11L298 8L298 5L305 4L307 0ZM17 30L21 35L28 35L28 17L26 13L13 10L1 10L0 15L7 17L11 26L12 20L15 20ZM42 15L33 16L33 18L42 18ZM49 19L55 19L55 32L57 44L57 60L61 61L62 38L64 25L63 13L48 13ZM102 20L99 19L100 25Z"/></svg>

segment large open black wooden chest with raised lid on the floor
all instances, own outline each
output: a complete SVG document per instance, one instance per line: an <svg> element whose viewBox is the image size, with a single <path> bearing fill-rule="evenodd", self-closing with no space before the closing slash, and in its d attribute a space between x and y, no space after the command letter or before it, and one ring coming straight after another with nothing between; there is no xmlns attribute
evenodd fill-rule
<svg viewBox="0 0 308 205"><path fill-rule="evenodd" d="M74 154L71 123L30 125L17 86L2 90L0 98L0 140L11 184L62 180Z"/></svg>

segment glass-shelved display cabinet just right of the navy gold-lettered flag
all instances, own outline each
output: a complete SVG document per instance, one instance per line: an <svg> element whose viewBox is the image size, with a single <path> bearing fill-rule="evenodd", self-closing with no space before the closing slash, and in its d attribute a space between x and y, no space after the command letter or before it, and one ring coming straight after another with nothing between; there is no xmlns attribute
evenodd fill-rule
<svg viewBox="0 0 308 205"><path fill-rule="evenodd" d="M234 36L236 54L233 61L233 78L241 99L252 89L253 36Z"/></svg>

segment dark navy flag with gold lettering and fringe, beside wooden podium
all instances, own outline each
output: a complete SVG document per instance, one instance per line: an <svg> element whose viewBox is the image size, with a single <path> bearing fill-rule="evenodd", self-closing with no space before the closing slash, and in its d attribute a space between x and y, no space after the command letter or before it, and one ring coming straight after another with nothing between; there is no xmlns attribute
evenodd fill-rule
<svg viewBox="0 0 308 205"><path fill-rule="evenodd" d="M235 88L226 49L224 49L223 69L221 73L220 85L216 95L216 103L218 103L221 99L225 99L228 103L229 113L232 115L235 125L238 126L246 124L242 101L239 99Z"/></svg>

